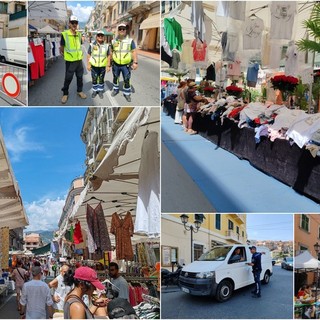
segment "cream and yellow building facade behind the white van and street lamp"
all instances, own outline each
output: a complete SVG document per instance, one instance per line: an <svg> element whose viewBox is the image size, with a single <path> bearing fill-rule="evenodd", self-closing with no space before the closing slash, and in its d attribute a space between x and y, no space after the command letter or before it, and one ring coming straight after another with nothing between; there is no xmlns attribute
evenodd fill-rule
<svg viewBox="0 0 320 320"><path fill-rule="evenodd" d="M199 218L196 214L188 216L188 225ZM204 214L192 243L190 231L185 230L179 214L163 214L161 230L161 265L165 268L174 262L188 264L216 245L245 244L247 241L245 214Z"/></svg>

